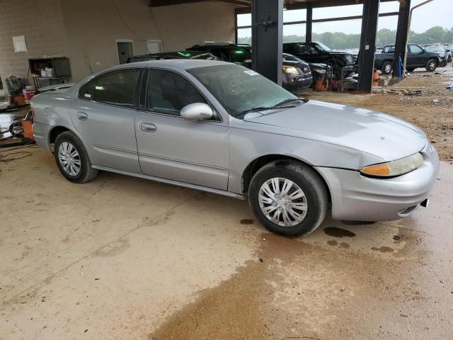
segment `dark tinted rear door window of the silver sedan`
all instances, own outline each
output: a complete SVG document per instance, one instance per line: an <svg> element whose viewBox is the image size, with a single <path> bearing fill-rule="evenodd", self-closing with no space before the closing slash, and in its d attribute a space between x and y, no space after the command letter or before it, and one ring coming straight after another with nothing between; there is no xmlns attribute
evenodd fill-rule
<svg viewBox="0 0 453 340"><path fill-rule="evenodd" d="M142 69L118 69L101 74L93 79L93 84L91 81L86 84L86 89L82 86L79 96L100 103L134 108L137 106L137 82L141 72Z"/></svg>

